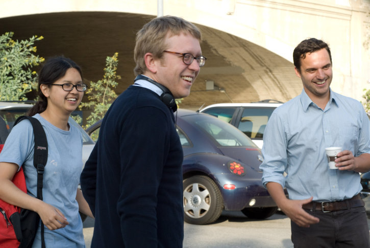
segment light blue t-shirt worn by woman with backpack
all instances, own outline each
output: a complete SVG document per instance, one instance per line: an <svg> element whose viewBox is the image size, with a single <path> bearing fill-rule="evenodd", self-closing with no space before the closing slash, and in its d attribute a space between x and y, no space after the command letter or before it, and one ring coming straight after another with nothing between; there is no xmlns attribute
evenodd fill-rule
<svg viewBox="0 0 370 248"><path fill-rule="evenodd" d="M69 131L57 128L43 119L38 119L46 133L48 145L47 164L43 176L43 201L58 208L67 218L69 225L58 230L45 227L46 247L85 247L82 221L76 200L77 187L82 171L82 135L72 124ZM36 197L37 172L33 165L34 134L31 123L23 120L10 132L0 162L24 165L28 194ZM41 222L40 222L41 223ZM33 247L41 247L40 226Z"/></svg>

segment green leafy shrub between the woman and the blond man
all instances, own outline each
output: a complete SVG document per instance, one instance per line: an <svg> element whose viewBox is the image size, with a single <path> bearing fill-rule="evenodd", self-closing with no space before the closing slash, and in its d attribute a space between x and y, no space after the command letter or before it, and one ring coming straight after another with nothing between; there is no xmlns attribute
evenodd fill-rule
<svg viewBox="0 0 370 248"><path fill-rule="evenodd" d="M118 65L118 53L115 53L112 57L107 57L106 67L104 68L104 77L102 80L97 82L90 82L85 94L87 94L88 102L80 104L80 109L90 109L91 114L86 118L87 127L94 124L96 121L103 119L108 108L112 104L112 101L116 99L117 94L113 91L113 88L117 86L117 79L121 77L116 74Z"/></svg>

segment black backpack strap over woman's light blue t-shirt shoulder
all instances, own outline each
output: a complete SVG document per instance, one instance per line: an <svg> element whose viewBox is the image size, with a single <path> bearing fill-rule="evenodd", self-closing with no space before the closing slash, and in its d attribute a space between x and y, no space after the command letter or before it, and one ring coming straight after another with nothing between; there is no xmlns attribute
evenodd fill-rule
<svg viewBox="0 0 370 248"><path fill-rule="evenodd" d="M33 165L37 170L37 198L42 200L42 187L43 187L43 176L44 176L44 167L47 162L47 139L44 128L42 127L39 120L30 116L20 116L14 122L14 126L24 120L28 119L33 127L34 139L35 139L35 148L33 155ZM41 221L42 222L42 221ZM41 224L41 247L45 248L44 240L44 224Z"/></svg>

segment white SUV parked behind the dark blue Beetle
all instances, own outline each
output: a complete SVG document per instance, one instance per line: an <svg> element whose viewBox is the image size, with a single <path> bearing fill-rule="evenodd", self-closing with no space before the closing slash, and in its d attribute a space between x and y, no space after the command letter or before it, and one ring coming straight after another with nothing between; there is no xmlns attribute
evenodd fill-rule
<svg viewBox="0 0 370 248"><path fill-rule="evenodd" d="M253 103L218 103L209 105L200 112L222 119L237 127L259 147L263 145L263 132L275 108L282 105L276 100Z"/></svg>

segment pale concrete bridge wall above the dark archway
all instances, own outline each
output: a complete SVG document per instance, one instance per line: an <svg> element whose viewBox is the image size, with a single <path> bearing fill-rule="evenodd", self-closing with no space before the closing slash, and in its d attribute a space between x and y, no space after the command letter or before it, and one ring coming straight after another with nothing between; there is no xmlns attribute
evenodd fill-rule
<svg viewBox="0 0 370 248"><path fill-rule="evenodd" d="M51 12L115 11L157 15L155 0L1 0L0 18ZM292 61L307 37L330 44L338 93L361 99L370 87L370 53L363 46L370 0L163 0L163 14L177 15L248 40ZM1 23L1 22L0 22ZM230 61L227 50L221 54Z"/></svg>

